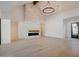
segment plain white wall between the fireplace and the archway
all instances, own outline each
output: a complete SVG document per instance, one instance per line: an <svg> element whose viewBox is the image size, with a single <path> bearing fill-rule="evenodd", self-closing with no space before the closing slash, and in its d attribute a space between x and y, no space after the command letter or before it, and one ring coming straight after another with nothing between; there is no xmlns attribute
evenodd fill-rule
<svg viewBox="0 0 79 59"><path fill-rule="evenodd" d="M45 35L51 37L63 37L63 19L59 15L46 17Z"/></svg>

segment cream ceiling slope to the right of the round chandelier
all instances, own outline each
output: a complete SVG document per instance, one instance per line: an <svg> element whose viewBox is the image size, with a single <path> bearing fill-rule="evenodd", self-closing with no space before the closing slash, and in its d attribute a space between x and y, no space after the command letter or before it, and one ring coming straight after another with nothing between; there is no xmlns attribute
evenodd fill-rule
<svg viewBox="0 0 79 59"><path fill-rule="evenodd" d="M67 11L79 8L79 1L54 2L56 10Z"/></svg>

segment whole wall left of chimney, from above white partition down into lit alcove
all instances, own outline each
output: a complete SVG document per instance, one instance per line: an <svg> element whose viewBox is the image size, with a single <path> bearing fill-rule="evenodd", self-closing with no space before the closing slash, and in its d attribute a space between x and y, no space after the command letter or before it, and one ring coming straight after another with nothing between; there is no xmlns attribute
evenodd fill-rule
<svg viewBox="0 0 79 59"><path fill-rule="evenodd" d="M19 31L15 23L18 25L20 21L24 21L24 7L16 6L9 8L9 10L2 10L2 19L11 20L11 40L17 40L20 36L18 37Z"/></svg>

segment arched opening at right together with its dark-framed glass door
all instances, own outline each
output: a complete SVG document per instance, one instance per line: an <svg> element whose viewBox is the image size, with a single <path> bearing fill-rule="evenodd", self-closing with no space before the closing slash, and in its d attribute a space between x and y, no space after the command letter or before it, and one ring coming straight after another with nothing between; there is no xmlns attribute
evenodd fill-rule
<svg viewBox="0 0 79 59"><path fill-rule="evenodd" d="M79 16L66 18L64 25L66 38L79 38Z"/></svg>

